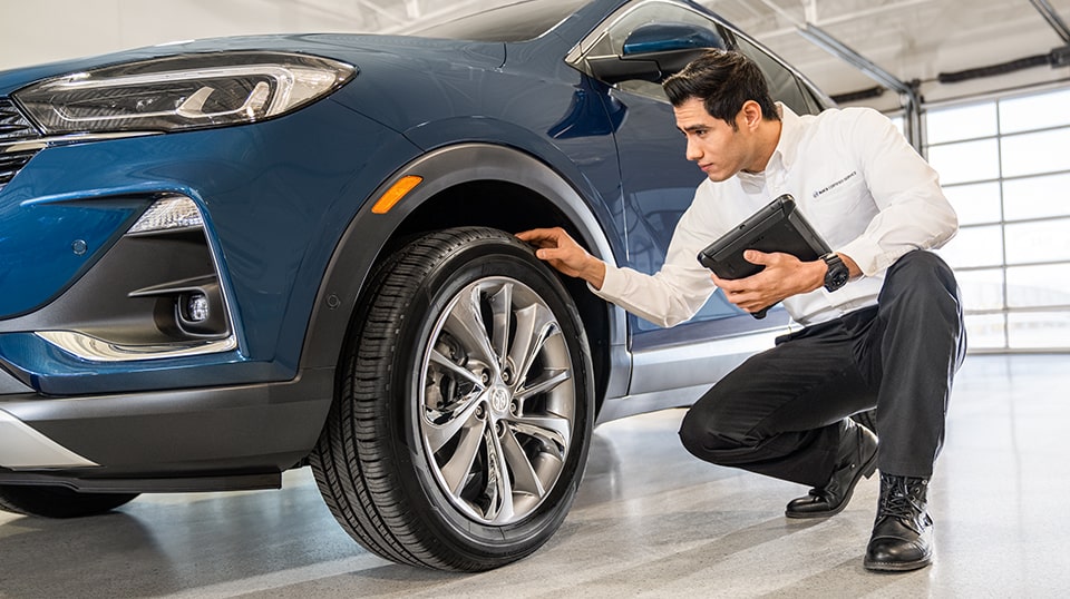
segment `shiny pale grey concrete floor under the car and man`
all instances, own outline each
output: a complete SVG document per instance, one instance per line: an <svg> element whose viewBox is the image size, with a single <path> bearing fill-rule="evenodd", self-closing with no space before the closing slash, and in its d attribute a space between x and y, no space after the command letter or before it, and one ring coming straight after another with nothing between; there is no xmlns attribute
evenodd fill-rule
<svg viewBox="0 0 1070 599"><path fill-rule="evenodd" d="M877 479L821 521L798 485L702 463L673 410L595 431L576 504L531 558L480 575L396 566L338 528L308 470L281 491L142 497L51 521L0 514L0 597L1068 597L1070 356L971 356L931 491L937 559L862 567Z"/></svg>

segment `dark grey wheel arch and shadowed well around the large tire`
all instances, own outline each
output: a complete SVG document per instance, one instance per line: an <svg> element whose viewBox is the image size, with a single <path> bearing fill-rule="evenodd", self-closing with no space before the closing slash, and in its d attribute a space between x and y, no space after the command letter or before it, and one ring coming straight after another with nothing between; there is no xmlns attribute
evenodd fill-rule
<svg viewBox="0 0 1070 599"><path fill-rule="evenodd" d="M373 214L373 202L409 175L422 181L386 214ZM563 176L521 150L460 144L425 154L385 180L343 233L317 293L302 367L337 365L350 318L374 267L422 232L461 225L509 233L561 226L593 255L615 263L613 243L604 232L607 222L609 215L600 217ZM561 279L591 343L596 407L601 407L604 397L623 394L626 387L625 315L595 297L582 281Z"/></svg>

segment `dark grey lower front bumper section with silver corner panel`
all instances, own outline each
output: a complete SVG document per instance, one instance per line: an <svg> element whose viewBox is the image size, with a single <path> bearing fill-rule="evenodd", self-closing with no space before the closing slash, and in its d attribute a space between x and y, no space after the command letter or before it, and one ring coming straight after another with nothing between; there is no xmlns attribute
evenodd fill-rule
<svg viewBox="0 0 1070 599"><path fill-rule="evenodd" d="M0 373L0 389L21 383ZM0 395L0 484L196 491L278 487L315 444L333 369L282 383ZM274 483L272 482L274 481Z"/></svg>

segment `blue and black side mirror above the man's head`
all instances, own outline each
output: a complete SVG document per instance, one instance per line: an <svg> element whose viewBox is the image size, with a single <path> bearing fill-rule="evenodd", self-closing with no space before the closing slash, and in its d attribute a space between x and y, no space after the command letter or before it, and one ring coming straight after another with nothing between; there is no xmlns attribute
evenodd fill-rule
<svg viewBox="0 0 1070 599"><path fill-rule="evenodd" d="M648 23L624 40L623 56L588 57L597 79L610 85L630 79L661 82L724 40L710 29L690 23Z"/></svg>

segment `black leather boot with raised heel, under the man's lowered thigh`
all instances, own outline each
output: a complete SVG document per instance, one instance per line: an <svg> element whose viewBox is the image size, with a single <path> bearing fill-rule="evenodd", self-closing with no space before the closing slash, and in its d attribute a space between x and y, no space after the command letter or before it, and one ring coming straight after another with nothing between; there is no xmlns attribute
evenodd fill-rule
<svg viewBox="0 0 1070 599"><path fill-rule="evenodd" d="M825 487L810 489L806 497L789 501L784 514L788 518L825 518L842 512L858 481L872 477L876 468L877 438L865 426L845 420L833 477Z"/></svg>

